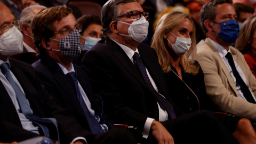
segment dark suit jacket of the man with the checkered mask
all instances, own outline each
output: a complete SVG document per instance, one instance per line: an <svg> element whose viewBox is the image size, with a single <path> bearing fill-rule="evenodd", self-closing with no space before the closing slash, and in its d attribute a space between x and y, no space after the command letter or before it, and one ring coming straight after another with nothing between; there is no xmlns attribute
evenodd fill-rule
<svg viewBox="0 0 256 144"><path fill-rule="evenodd" d="M60 107L69 109L70 113L77 119L78 123L83 127L83 129L86 130L87 135L91 135L89 124L77 99L76 90L66 75L62 73L57 62L55 62L55 60L49 56L46 56L33 63L32 66L35 68L39 78L41 78L41 83L45 86L45 89L49 92L49 94L54 97L57 104ZM76 73L78 82L81 84L83 90L89 98L92 109L95 111L95 115L100 117L101 108L98 106L99 103L97 103L95 100L98 98L93 97L89 78L85 74L84 70L80 67L77 67ZM108 121L108 118L104 114L102 117L105 119L105 124L107 124L109 130L114 128L114 125ZM102 118L100 122L101 124L103 123Z"/></svg>

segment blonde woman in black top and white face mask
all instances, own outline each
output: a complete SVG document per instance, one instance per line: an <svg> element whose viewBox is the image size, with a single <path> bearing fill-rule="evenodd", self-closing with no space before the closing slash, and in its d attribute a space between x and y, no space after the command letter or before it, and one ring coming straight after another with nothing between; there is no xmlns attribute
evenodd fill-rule
<svg viewBox="0 0 256 144"><path fill-rule="evenodd" d="M159 20L152 45L158 55L173 101L186 113L212 110L204 74L195 61L195 27L189 14L166 13Z"/></svg>

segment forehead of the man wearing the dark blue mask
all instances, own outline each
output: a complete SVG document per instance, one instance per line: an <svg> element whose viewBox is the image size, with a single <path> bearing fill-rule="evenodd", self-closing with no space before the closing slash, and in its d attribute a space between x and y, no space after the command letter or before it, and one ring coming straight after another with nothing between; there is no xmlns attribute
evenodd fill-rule
<svg viewBox="0 0 256 144"><path fill-rule="evenodd" d="M216 6L216 13L220 17L225 14L236 15L235 8L229 3L223 3ZM217 16L216 15L216 16Z"/></svg>

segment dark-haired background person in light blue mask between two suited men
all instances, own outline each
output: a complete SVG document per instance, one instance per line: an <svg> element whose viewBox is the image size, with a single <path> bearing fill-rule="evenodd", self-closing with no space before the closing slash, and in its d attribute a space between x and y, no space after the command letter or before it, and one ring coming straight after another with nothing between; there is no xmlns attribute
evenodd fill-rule
<svg viewBox="0 0 256 144"><path fill-rule="evenodd" d="M82 26L81 41L82 50L89 50L93 45L103 38L100 18L95 15L83 15L77 19Z"/></svg>

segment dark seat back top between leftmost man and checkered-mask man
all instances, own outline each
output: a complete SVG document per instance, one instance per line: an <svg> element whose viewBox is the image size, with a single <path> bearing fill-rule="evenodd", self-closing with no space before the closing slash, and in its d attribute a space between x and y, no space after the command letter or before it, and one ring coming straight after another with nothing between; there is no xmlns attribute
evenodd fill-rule
<svg viewBox="0 0 256 144"><path fill-rule="evenodd" d="M10 55L9 57L26 62L29 65L31 65L32 63L34 63L39 59L38 57L36 57L35 52L22 52L22 53Z"/></svg>

